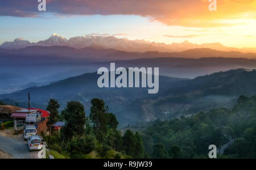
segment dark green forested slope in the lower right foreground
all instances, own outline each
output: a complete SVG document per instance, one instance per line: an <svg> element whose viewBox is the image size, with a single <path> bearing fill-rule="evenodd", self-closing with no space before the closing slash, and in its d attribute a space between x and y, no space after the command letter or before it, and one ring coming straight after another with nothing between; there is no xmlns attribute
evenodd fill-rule
<svg viewBox="0 0 256 170"><path fill-rule="evenodd" d="M142 130L151 158L208 158L208 147L230 143L218 158L256 158L256 96L240 96L232 109L156 120ZM232 141L232 142L230 142Z"/></svg>

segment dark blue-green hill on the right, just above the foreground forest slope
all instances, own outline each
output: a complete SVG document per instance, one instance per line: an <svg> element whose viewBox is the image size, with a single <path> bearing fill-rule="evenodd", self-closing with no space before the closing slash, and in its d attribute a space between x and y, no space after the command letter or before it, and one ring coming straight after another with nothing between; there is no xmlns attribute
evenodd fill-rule
<svg viewBox="0 0 256 170"><path fill-rule="evenodd" d="M154 118L173 118L181 114L232 107L240 95L256 94L256 70L237 69L199 76L183 83L175 82L168 90L150 100L134 102L134 108Z"/></svg>

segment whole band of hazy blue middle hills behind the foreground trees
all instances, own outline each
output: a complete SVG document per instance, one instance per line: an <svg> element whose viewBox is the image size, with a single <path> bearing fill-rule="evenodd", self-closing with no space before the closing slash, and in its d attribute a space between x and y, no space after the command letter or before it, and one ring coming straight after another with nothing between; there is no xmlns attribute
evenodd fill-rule
<svg viewBox="0 0 256 170"><path fill-rule="evenodd" d="M256 70L230 70L192 80L160 76L160 90L156 95L148 95L147 88L98 88L97 78L96 73L87 73L47 86L0 95L0 99L7 98L26 105L27 93L30 92L35 106L46 107L47 100L53 97L62 106L67 101L79 100L88 111L90 100L100 97L125 125L190 115L212 108L229 108L240 95L256 95Z"/></svg>

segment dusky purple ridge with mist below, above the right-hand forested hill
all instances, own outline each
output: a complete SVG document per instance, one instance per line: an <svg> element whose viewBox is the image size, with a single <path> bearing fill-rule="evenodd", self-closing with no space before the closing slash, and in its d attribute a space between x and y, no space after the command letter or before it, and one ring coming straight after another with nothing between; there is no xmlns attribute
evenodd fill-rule
<svg viewBox="0 0 256 170"><path fill-rule="evenodd" d="M247 58L139 58L126 61L113 61L122 67L159 67L160 74L179 78L195 78L205 74L233 69L256 69L256 59ZM109 67L109 62L92 63L90 66Z"/></svg>

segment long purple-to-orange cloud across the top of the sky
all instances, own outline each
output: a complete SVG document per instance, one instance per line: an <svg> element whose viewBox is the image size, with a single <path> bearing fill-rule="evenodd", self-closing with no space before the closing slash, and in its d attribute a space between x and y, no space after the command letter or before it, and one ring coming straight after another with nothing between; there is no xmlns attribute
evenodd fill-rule
<svg viewBox="0 0 256 170"><path fill-rule="evenodd" d="M40 15L34 5L34 0L1 0L0 15ZM208 0L52 0L47 6L53 14L139 15L166 25L200 28L245 24L223 22L226 19L256 18L255 0L217 0L217 11L212 12Z"/></svg>

